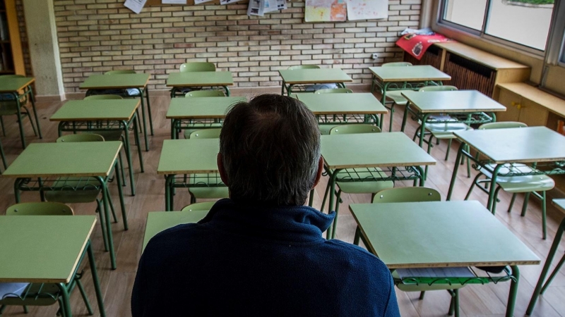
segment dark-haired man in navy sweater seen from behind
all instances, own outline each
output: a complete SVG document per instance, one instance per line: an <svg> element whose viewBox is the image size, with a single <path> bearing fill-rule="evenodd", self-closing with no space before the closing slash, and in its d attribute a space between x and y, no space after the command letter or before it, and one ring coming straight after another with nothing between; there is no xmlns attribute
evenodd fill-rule
<svg viewBox="0 0 565 317"><path fill-rule="evenodd" d="M316 118L304 104L264 94L234 105L218 168L230 199L150 240L133 317L400 316L386 266L325 240L335 213L303 206L323 170Z"/></svg>

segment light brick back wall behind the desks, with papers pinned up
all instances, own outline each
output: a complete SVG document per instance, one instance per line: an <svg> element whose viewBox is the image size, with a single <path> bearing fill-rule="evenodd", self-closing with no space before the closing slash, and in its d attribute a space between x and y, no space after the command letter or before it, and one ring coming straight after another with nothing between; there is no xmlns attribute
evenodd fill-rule
<svg viewBox="0 0 565 317"><path fill-rule="evenodd" d="M369 66L402 56L394 42L417 27L421 0L390 0L387 20L304 23L304 0L264 17L247 4L148 6L136 15L124 0L54 0L66 92L107 70L150 73L151 89L186 61L233 73L236 87L279 86L278 70L299 64L343 68L369 83ZM373 60L373 53L379 59Z"/></svg>

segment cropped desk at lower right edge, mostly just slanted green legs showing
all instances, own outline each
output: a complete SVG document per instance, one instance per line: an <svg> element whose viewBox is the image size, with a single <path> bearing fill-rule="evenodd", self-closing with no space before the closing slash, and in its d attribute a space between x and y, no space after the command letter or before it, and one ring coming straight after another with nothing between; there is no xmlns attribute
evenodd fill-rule
<svg viewBox="0 0 565 317"><path fill-rule="evenodd" d="M565 199L553 199L553 204L554 206L557 207L557 209L559 209L559 211L565 213ZM537 302L537 298L540 297L540 294L543 294L545 290L547 290L549 283L552 282L552 280L555 278L555 275L559 273L559 269L565 263L565 255L564 255L559 261L559 263L557 263L557 266L555 266L553 273L549 275L549 278L547 279L547 281L545 281L545 278L547 277L547 273L549 273L549 268L552 266L553 258L557 253L559 244L561 243L561 237L563 237L564 231L565 231L565 218L561 220L561 224L559 225L559 228L557 228L557 233L555 234L555 237L553 239L552 247L551 249L549 249L549 253L547 254L547 259L545 260L545 264L543 265L542 273L540 274L540 279L537 280L537 285L535 285L535 289L532 294L532 299L530 299L530 304L528 305L528 309L525 311L525 314L528 316L532 314L534 310L534 306Z"/></svg>

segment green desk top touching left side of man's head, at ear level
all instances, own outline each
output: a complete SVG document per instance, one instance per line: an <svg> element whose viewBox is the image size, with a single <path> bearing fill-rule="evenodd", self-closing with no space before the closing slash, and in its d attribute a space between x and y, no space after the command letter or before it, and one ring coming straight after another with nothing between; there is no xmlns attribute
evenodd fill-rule
<svg viewBox="0 0 565 317"><path fill-rule="evenodd" d="M219 139L166 139L163 141L157 174L216 173L219 151Z"/></svg>

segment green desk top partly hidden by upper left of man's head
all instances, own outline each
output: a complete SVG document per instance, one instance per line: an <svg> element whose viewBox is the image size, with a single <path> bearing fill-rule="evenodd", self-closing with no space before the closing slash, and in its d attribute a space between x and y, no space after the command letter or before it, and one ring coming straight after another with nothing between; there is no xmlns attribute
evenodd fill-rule
<svg viewBox="0 0 565 317"><path fill-rule="evenodd" d="M191 97L172 98L167 119L222 119L227 109L245 97Z"/></svg>

